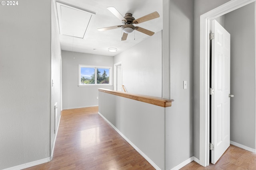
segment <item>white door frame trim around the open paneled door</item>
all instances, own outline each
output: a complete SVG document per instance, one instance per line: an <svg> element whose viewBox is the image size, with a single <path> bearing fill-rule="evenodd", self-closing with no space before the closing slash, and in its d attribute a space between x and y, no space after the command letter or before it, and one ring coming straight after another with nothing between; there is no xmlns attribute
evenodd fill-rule
<svg viewBox="0 0 256 170"><path fill-rule="evenodd" d="M256 0L230 0L200 16L200 141L199 164L209 165L210 143L210 21Z"/></svg>

